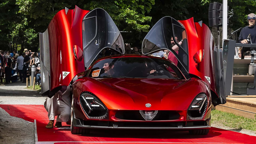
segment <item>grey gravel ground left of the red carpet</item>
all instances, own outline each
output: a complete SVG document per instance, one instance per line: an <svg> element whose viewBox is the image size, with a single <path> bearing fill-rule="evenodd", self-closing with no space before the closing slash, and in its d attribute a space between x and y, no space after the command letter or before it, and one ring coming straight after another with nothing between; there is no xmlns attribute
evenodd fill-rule
<svg viewBox="0 0 256 144"><path fill-rule="evenodd" d="M0 84L0 104L40 104L45 101L38 91L28 90L26 83ZM12 117L0 108L0 143L34 144L34 123Z"/></svg>

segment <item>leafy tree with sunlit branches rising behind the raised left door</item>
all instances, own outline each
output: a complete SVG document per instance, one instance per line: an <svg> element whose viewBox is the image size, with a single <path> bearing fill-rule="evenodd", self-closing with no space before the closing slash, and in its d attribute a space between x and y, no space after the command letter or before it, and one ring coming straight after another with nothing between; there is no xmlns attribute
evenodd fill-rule
<svg viewBox="0 0 256 144"><path fill-rule="evenodd" d="M154 0L17 0L16 4L20 8L19 13L26 15L34 24L32 27L36 32L44 32L50 20L61 9L72 9L77 5L86 10L103 8L121 31L140 35L150 28L145 22L150 22L151 17L144 14L149 13L155 3ZM127 40L136 43L134 36L131 36L132 39L129 37Z"/></svg>

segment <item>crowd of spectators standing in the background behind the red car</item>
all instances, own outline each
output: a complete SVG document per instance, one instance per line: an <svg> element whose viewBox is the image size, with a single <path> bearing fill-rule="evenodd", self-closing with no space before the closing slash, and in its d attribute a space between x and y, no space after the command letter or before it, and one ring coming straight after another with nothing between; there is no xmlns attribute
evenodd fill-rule
<svg viewBox="0 0 256 144"><path fill-rule="evenodd" d="M131 47L130 44L126 43L124 48L124 54L142 54L141 48L137 46ZM161 57L167 58L167 55L163 56L163 54L166 54L163 51L154 53L152 56L160 56L160 53ZM117 51L110 48L105 48L100 52L97 58L117 54L119 54ZM9 51L0 50L0 83L26 83L26 78L31 76L31 67L33 65L36 66L36 84L40 85L41 71L39 53L31 52L31 50L28 49L24 49L24 51L22 52L17 52L16 50L14 50L11 53Z"/></svg>

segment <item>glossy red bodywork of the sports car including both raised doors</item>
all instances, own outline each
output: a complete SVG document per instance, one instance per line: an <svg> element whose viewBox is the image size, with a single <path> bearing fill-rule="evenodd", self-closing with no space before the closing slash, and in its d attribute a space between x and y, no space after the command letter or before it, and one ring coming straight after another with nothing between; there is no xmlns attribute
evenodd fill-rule
<svg viewBox="0 0 256 144"><path fill-rule="evenodd" d="M180 72L183 72L182 75L184 77L186 75L187 78L94 78L89 76L94 64L105 59L120 57L129 57L130 59L133 59L142 57L169 61L163 58L155 58L145 55L116 55L97 59L95 55L98 55L100 51L106 47L114 50L115 48L116 50L121 48L121 50L119 49L119 52L121 54L124 53L122 50L124 47L122 36L110 16L107 13L104 15L105 11L104 13L100 13L103 11L103 9L100 9L99 11L91 11L92 13L88 13L89 11L82 10L78 7L73 10L63 9L54 16L46 32L40 33L42 95L51 97L62 86L72 85L72 122L75 121L75 123L72 123L71 131L73 131L73 128L85 128L84 126L87 126L86 128L88 128L90 126L95 126L87 124L86 122L108 122L108 124L113 122L182 122L183 125L178 126L184 126L185 129L186 127L188 129L209 129L213 92L218 96L218 93L216 92L218 91L218 85L216 84L218 81L215 78L216 74L213 64L214 43L210 29L202 23L194 22L193 18L179 21L180 23L176 20L174 22L176 26L180 25L178 27L184 27L187 34L188 52L186 52L187 55L184 54L188 56L188 63L186 58L179 59L180 62L182 60L186 61L181 64L184 69L181 70L181 67L177 66L177 69L180 68ZM97 15L97 12L99 15ZM97 23L97 18L102 18L100 16L106 17L105 23ZM97 24L97 27L95 28L96 32L94 31L96 34L84 33L82 22L92 20L93 23L95 22L93 19L96 20ZM171 18L171 20L172 19L173 18ZM90 22L88 23L90 24ZM107 30L103 32L102 29L97 29L101 25L103 30L105 30L104 28ZM107 27L104 27L103 25L107 25ZM171 28L173 27L171 26ZM88 30L88 32L90 32L90 30ZM86 39L83 37L85 35ZM93 37L93 35L95 36ZM109 37L104 39L104 36ZM114 42L111 43L112 41ZM89 47L93 49L89 49ZM74 48L76 50L81 48L81 51L79 51L80 58L82 55L81 53L83 53L85 59L78 60L75 56L76 50L74 50ZM163 49L168 49L168 47ZM90 55L90 52L92 52L92 57L86 57L85 55ZM153 52L156 52L156 50L149 53ZM176 57L177 56L180 55L176 54ZM182 56L181 57L184 58L184 55ZM92 63L94 60L95 62ZM197 62L197 60L201 61ZM85 66L86 63L88 64L87 66ZM186 66L188 66L188 69L185 64L187 64ZM184 73L184 71L186 73ZM75 80L73 83L72 80L74 80L74 77L81 72L84 72L83 75L80 75L78 80ZM190 77L189 74L195 75L195 77ZM207 77L210 77L210 82ZM104 105L104 108L106 107L107 117L95 119L95 116L88 116L86 114L85 109L83 109L84 107L81 105L81 99L87 102L86 98L83 97L83 93L85 92L90 93L92 96L86 97L88 100L96 97L95 99L99 100L100 104ZM188 112L191 111L192 104L194 104L193 102L197 100L195 98L200 94L204 94L204 99L201 99L204 100L204 102L203 104L200 104L200 106L202 105L203 107L205 104L204 110L206 111L202 114L200 109L200 116L195 116L193 118L197 119L192 120L191 117L189 117ZM90 104L93 104L93 102ZM150 107L147 107L146 104L150 104ZM195 104L197 103L195 102ZM86 105L89 104L86 103ZM173 111L178 113L179 117L156 121L147 121L146 119L145 121L143 121L143 119L129 120L118 117L117 114L120 111ZM187 123L189 122L195 122L195 125L192 124L192 126L187 126ZM203 123L200 123L201 127L196 125L197 122ZM107 127L112 128L111 126ZM175 129L176 128L178 127L175 127Z"/></svg>

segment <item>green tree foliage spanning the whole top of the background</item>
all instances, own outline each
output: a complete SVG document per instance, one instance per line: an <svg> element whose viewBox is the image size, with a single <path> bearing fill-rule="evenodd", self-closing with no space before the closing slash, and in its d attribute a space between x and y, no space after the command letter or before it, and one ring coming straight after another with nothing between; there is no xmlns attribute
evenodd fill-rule
<svg viewBox="0 0 256 144"><path fill-rule="evenodd" d="M208 25L210 2L222 0L2 0L0 1L0 49L10 42L29 49L39 46L39 32L44 32L53 16L65 7L92 10L100 7L112 17L125 42L140 45L144 36L163 16L176 20L194 17ZM256 13L255 0L229 0L229 28L248 25L247 14Z"/></svg>

